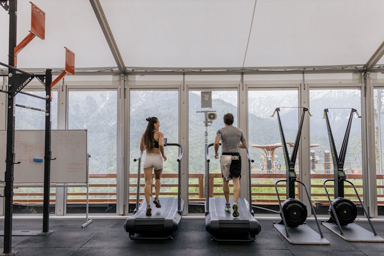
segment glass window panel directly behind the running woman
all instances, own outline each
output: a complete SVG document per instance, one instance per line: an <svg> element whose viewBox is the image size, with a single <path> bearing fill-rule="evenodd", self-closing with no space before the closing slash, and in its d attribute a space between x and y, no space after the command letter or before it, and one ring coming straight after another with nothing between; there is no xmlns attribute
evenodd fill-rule
<svg viewBox="0 0 384 256"><path fill-rule="evenodd" d="M131 90L130 92L130 189L129 198L133 206L136 204L138 162L133 159L140 154L141 135L145 132L147 117L157 117L160 122L159 131L167 138L167 143L179 143L179 92ZM178 146L166 146L164 154L167 160L161 175L160 197L177 197L178 193ZM143 155L140 167L140 195L144 198ZM153 185L155 182L153 181ZM155 189L153 189L155 191ZM134 209L131 207L131 209Z"/></svg>

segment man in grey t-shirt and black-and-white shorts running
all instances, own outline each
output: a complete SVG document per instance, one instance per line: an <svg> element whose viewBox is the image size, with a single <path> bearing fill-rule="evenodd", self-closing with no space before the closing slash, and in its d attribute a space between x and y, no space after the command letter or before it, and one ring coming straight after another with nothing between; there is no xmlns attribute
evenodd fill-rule
<svg viewBox="0 0 384 256"><path fill-rule="evenodd" d="M220 158L221 173L223 175L223 191L225 196L225 210L230 211L229 204L229 181L233 180L233 217L239 217L239 193L240 193L240 177L241 177L241 157L239 148L246 148L247 141L244 138L243 132L234 127L233 115L227 113L223 117L224 127L219 129L215 138L215 158L219 158L219 142L221 140Z"/></svg>

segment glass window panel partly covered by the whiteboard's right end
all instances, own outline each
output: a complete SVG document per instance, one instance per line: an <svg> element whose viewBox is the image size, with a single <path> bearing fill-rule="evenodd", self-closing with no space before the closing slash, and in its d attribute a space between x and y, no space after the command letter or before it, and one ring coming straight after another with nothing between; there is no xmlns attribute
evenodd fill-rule
<svg viewBox="0 0 384 256"><path fill-rule="evenodd" d="M88 132L89 211L116 212L117 91L75 91L68 95L68 129ZM67 214L85 212L86 188L67 189Z"/></svg>

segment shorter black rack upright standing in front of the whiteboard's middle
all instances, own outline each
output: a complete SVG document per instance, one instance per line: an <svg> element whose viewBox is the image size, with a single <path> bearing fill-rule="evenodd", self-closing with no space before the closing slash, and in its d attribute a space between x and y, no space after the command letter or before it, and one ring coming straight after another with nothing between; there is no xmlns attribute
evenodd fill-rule
<svg viewBox="0 0 384 256"><path fill-rule="evenodd" d="M42 232L49 232L49 194L51 182L51 82L52 70L47 69L46 83L46 131L45 131L45 161L44 161L44 204L42 206Z"/></svg>

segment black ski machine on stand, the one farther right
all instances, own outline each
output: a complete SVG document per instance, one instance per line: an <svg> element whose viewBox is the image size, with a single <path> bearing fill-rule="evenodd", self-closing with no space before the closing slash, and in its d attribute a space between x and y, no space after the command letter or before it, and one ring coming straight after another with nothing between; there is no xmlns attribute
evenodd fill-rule
<svg viewBox="0 0 384 256"><path fill-rule="evenodd" d="M344 172L344 161L347 153L348 138L351 131L353 114L356 113L358 117L360 116L357 110L351 108L351 113L349 115L349 120L347 124L347 130L344 135L344 140L342 143L342 147L340 149L340 154L337 155L336 146L335 146L335 142L333 140L333 135L331 131L331 126L329 124L328 112L329 112L329 109L324 110L324 118L326 120L328 138L331 146L334 178L324 181L324 184L323 184L329 200L329 204L330 204L328 212L331 217L327 222L323 222L322 224L346 241L384 242L384 239L377 236L377 233L369 218L368 212L364 207L364 204L362 203L359 194L357 193L357 189L355 185L351 181L347 180L347 176ZM331 198L329 197L329 193L326 186L326 183L329 181L333 181L333 184L334 184L334 200L333 201L331 201ZM366 215L368 223L371 226L372 232L353 222L357 217L357 206L351 200L344 198L344 182L347 182L350 185L352 185L356 193L356 196L360 202L361 208L364 210L364 214Z"/></svg>

